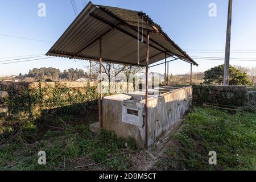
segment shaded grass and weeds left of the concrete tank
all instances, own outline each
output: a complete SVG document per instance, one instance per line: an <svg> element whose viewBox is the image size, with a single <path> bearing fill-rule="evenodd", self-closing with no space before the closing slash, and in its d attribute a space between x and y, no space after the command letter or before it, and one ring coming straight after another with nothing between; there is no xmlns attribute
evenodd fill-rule
<svg viewBox="0 0 256 182"><path fill-rule="evenodd" d="M0 170L84 170L130 168L131 139L117 138L102 130L89 131L89 123L76 118L48 118L28 125L0 146ZM71 121L71 122L69 122ZM72 123L72 124L71 124ZM51 126L51 127L49 127ZM125 144L128 143L128 147ZM46 166L38 164L38 152L46 151Z"/></svg>

